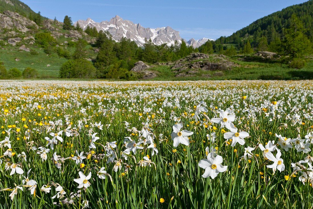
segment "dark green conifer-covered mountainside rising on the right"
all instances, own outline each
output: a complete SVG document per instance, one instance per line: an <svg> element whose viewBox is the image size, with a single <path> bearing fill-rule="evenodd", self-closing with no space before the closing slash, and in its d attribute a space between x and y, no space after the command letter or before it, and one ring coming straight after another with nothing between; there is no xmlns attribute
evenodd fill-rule
<svg viewBox="0 0 313 209"><path fill-rule="evenodd" d="M296 14L304 23L306 35L313 40L313 1L292 5L281 11L269 14L249 24L229 37L221 37L218 41L239 44L243 38L253 36L254 41L266 36L268 42L283 37L283 28L288 28L291 15ZM225 41L224 41L225 40Z"/></svg>

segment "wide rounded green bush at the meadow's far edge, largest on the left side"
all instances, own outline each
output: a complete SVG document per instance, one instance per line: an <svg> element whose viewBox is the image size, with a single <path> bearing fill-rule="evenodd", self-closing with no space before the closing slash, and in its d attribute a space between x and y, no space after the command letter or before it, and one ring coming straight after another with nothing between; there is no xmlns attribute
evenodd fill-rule
<svg viewBox="0 0 313 209"><path fill-rule="evenodd" d="M96 68L85 59L68 60L60 68L60 78L95 78Z"/></svg>

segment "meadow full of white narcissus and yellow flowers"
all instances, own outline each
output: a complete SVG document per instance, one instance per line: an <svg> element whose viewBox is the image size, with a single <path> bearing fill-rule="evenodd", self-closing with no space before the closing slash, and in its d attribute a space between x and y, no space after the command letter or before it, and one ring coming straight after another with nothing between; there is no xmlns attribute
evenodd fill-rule
<svg viewBox="0 0 313 209"><path fill-rule="evenodd" d="M0 208L313 206L311 81L0 86Z"/></svg>

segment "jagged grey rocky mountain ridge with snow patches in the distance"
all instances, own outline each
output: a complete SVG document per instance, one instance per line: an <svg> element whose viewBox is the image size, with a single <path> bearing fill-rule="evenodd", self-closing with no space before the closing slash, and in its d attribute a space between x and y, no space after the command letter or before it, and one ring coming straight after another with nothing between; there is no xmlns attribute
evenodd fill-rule
<svg viewBox="0 0 313 209"><path fill-rule="evenodd" d="M100 23L95 22L90 18L87 20L78 20L74 23L74 26L76 26L77 23L84 30L89 25L91 28L95 27L98 31L108 31L115 41L119 41L122 37L129 38L130 40L135 41L138 46L143 46L145 44L145 38L148 40L151 39L152 42L156 45L161 45L164 43L171 45L175 42L175 40L177 40L179 44L182 42L182 38L180 37L179 32L169 26L156 29L144 28L139 23L134 24L129 20L122 19L118 15L116 15L110 21L102 21ZM207 40L210 39L203 38L198 41L194 40L196 41L195 43L191 39L186 43L187 45L196 48L204 44Z"/></svg>

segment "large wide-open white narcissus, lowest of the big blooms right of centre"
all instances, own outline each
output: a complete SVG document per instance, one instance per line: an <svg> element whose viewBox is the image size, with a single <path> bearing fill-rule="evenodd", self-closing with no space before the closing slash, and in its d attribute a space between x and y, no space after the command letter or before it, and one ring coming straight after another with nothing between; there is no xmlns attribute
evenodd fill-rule
<svg viewBox="0 0 313 209"><path fill-rule="evenodd" d="M214 179L219 173L225 172L227 170L227 166L223 166L221 163L223 163L222 156L208 154L207 159L202 159L198 163L200 168L205 169L202 177L208 178L210 176Z"/></svg>

